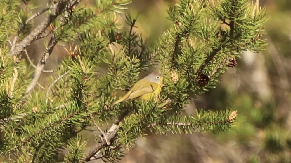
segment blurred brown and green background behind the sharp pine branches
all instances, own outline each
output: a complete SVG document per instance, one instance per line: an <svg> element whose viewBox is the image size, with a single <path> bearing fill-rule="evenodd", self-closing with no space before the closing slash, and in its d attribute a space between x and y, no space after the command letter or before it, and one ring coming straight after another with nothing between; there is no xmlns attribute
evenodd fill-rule
<svg viewBox="0 0 291 163"><path fill-rule="evenodd" d="M128 12L137 17L135 30L144 38L158 38L171 25L166 10L176 1L133 0ZM43 2L38 1L45 7ZM266 50L241 54L238 66L221 76L217 88L199 96L185 110L186 114L199 108L238 110L233 129L167 136L147 132L147 140L138 138L122 163L291 163L291 1L260 0L260 6L267 8L270 18ZM44 48L42 41L30 46L34 63ZM57 46L45 69L54 69L64 55L63 47ZM44 74L39 83L45 84L50 75L54 74ZM93 142L94 135L89 135Z"/></svg>

